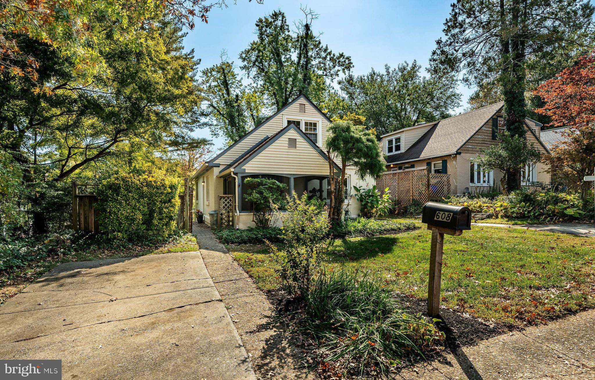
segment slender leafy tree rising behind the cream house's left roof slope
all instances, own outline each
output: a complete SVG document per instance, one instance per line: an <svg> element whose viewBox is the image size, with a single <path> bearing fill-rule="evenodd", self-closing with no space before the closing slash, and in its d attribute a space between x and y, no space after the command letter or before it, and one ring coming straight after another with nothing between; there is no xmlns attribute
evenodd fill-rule
<svg viewBox="0 0 595 380"><path fill-rule="evenodd" d="M264 97L252 86L245 86L233 62L222 56L220 64L201 71L199 83L203 115L211 134L234 143L264 120Z"/></svg>

